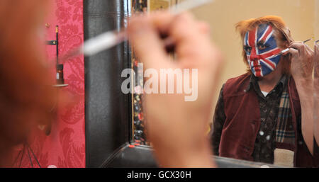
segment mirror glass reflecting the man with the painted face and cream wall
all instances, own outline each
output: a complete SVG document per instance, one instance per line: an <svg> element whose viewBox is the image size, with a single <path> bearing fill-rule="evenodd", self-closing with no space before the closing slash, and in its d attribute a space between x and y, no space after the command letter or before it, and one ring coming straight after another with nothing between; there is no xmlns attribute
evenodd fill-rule
<svg viewBox="0 0 319 182"><path fill-rule="evenodd" d="M132 0L132 6L135 12L150 12L179 2ZM308 47L298 43L293 47L314 49L319 39L318 8L318 0L269 0L267 4L216 0L192 11L211 26L212 42L226 60L208 126L214 154L281 166L319 165L319 158L314 157L318 146L313 144L313 135L319 140L319 129L313 130L319 124L312 122L313 104L305 104L312 96L308 88L312 81L301 81L301 75L312 77L312 68L301 69L297 60L305 61L305 57L296 57L293 50L281 52L294 41L309 38ZM138 75L138 57L133 55L132 61ZM142 80L135 81L135 91L140 91ZM132 106L133 142L150 144L145 137L142 94L133 94Z"/></svg>

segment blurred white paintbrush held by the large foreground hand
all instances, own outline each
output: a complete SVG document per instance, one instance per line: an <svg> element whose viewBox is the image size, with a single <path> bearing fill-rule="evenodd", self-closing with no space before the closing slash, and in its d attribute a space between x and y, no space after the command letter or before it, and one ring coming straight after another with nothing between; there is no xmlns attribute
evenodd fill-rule
<svg viewBox="0 0 319 182"><path fill-rule="evenodd" d="M203 6L211 2L213 2L213 0L186 0L181 2L180 4L172 6L171 8L169 8L169 11L172 14L177 15L184 11L188 11L198 6ZM82 45L70 50L69 52L67 52L67 54L60 57L60 60L61 62L63 62L65 59L69 59L70 57L81 54L83 54L84 56L92 56L103 50L108 50L109 48L118 45L127 39L128 38L126 30L121 30L119 32L116 30L108 31L106 33L97 35L96 37L89 40L85 40Z"/></svg>

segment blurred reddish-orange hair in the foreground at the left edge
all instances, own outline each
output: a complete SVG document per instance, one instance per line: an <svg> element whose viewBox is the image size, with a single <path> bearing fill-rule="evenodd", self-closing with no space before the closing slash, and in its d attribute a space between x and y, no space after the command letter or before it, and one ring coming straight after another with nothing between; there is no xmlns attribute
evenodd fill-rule
<svg viewBox="0 0 319 182"><path fill-rule="evenodd" d="M50 112L56 101L54 75L38 34L47 6L43 0L0 1L1 144L25 142L33 127L55 118Z"/></svg>

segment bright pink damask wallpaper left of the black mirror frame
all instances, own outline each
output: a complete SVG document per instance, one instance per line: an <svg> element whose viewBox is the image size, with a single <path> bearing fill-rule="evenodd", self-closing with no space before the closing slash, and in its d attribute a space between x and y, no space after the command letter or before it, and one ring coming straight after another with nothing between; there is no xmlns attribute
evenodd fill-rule
<svg viewBox="0 0 319 182"><path fill-rule="evenodd" d="M80 45L84 41L83 0L55 0L46 25L47 40L55 40L55 25L59 26L60 55ZM46 47L47 57L52 60L56 55L55 45ZM57 91L67 94L71 103L63 106L57 103L57 121L50 135L46 136L39 127L29 142L30 147L25 146L23 156L16 160L16 166L85 167L83 56L64 62L64 77L69 85Z"/></svg>

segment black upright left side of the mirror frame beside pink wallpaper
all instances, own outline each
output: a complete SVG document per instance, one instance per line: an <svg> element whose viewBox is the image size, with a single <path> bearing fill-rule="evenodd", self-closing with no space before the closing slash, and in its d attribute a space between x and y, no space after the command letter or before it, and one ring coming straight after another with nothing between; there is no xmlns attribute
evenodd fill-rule
<svg viewBox="0 0 319 182"><path fill-rule="evenodd" d="M125 27L128 1L84 1L84 40ZM128 42L84 59L86 167L101 166L130 138L130 95L121 91L121 72L128 67Z"/></svg>

